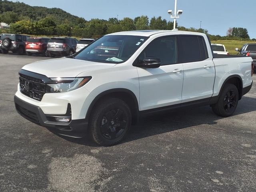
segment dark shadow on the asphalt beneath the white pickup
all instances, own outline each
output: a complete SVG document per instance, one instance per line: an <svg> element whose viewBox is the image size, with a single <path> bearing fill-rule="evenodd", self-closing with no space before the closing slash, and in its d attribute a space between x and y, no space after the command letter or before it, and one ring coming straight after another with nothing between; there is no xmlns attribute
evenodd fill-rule
<svg viewBox="0 0 256 192"><path fill-rule="evenodd" d="M244 96L239 101L238 107L233 116L240 114L246 114L256 111L256 98L250 98ZM158 114L155 116L149 116L147 118L140 119L140 122L136 126L132 126L127 137L120 144L131 142L134 140L163 134L166 132L177 131L184 128L190 128L198 125L212 125L218 124L216 122L224 117L214 114L210 106L204 106L199 108L192 108L187 110L177 110L175 112L168 112L165 114ZM232 118L232 117L227 117ZM249 122L248 122L249 123ZM60 136L70 142L82 144L86 146L97 146L92 143L90 138L69 138L66 136Z"/></svg>

